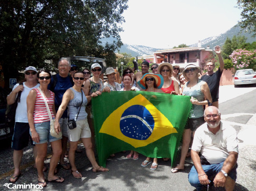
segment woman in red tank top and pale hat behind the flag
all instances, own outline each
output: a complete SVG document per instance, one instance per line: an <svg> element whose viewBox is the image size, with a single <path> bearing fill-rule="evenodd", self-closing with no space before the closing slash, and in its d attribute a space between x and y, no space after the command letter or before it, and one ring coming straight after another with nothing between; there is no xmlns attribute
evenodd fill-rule
<svg viewBox="0 0 256 191"><path fill-rule="evenodd" d="M164 78L164 84L162 86L162 91L166 94L179 94L178 83L174 81L172 77L173 66L170 63L161 63L158 66L158 72Z"/></svg>

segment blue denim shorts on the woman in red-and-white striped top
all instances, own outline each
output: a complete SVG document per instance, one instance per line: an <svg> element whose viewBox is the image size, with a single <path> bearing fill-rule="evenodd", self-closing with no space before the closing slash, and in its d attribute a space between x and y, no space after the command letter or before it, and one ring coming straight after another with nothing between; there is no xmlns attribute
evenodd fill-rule
<svg viewBox="0 0 256 191"><path fill-rule="evenodd" d="M51 143L55 140L59 140L61 138L55 138L50 135L50 121L49 122L42 122L42 123L35 123L35 130L36 133L39 135L39 143L33 142L34 144L42 144L42 143ZM31 132L30 132L31 135Z"/></svg>

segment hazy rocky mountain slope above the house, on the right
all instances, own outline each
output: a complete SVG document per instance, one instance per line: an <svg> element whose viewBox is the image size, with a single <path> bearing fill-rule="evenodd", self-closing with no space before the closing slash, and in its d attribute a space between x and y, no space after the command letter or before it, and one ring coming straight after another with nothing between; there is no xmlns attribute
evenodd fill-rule
<svg viewBox="0 0 256 191"><path fill-rule="evenodd" d="M240 31L241 31L241 27L238 25L235 25L223 34L203 39L201 41L202 47L210 46L210 48L213 48L217 45L222 46L225 43L227 37L232 39L234 35L245 36L247 38L246 43L252 43L252 42L256 41L256 37L252 37L251 33L245 32L244 30L240 33ZM188 45L188 46L189 47L197 47L197 43Z"/></svg>

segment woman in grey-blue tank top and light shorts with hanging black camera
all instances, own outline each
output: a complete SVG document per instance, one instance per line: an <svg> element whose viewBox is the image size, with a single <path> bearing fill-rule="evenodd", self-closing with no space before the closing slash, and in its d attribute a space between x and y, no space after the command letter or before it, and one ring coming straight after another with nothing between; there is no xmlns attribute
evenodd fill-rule
<svg viewBox="0 0 256 191"><path fill-rule="evenodd" d="M59 119L61 118L64 110L68 106L69 119L76 119L75 124L77 127L68 129L68 136L70 141L69 148L69 162L71 164L71 173L74 178L81 178L82 175L75 166L75 150L77 149L78 141L81 138L84 148L86 148L86 154L92 164L92 171L96 172L108 172L109 169L100 167L96 162L91 142L91 130L88 125L86 105L90 102L91 97L98 96L96 93L92 93L90 96L86 96L81 87L84 81L83 73L78 71L74 73L73 77L74 86L69 88L63 95L61 105L56 114L55 127L60 128ZM81 107L81 108L80 108Z"/></svg>

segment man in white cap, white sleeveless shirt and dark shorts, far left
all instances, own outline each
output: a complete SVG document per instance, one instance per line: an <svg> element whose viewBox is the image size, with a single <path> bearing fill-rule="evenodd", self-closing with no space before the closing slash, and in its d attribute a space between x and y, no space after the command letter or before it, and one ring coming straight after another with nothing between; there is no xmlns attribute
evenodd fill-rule
<svg viewBox="0 0 256 191"><path fill-rule="evenodd" d="M20 166L23 156L23 148L29 144L30 139L30 126L26 113L27 95L29 95L31 89L39 87L39 84L37 84L37 70L35 67L26 67L24 74L26 82L23 82L21 85L16 84L13 87L13 91L7 96L7 104L11 105L15 102L18 93L21 92L20 102L18 102L16 108L14 134L12 138L14 173L9 180L11 183L15 183L21 175ZM35 149L33 152L36 154Z"/></svg>

